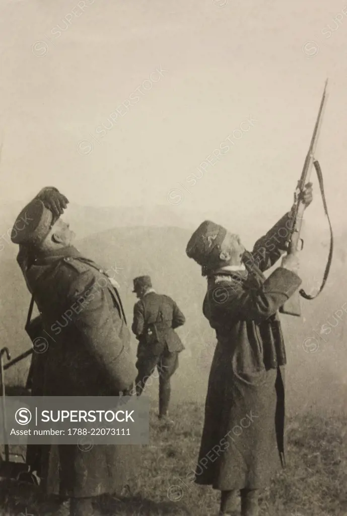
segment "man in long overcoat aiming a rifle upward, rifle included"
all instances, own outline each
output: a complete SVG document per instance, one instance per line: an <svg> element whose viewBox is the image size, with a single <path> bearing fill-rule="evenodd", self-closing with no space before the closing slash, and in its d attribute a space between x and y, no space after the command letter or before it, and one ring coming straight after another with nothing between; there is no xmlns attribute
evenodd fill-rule
<svg viewBox="0 0 347 516"><path fill-rule="evenodd" d="M197 228L186 249L207 277L203 313L217 336L195 482L221 491L221 516L236 514L239 493L242 516L257 516L260 490L269 486L281 462L285 464L286 351L278 310L300 315L299 298L291 298L302 282L298 241L302 215L312 201L311 183L306 181L324 99L325 90L291 211L256 242L252 253L238 235L211 221ZM282 265L266 279L263 271L285 252ZM332 246L323 285L331 257ZM300 294L312 299L304 291Z"/></svg>

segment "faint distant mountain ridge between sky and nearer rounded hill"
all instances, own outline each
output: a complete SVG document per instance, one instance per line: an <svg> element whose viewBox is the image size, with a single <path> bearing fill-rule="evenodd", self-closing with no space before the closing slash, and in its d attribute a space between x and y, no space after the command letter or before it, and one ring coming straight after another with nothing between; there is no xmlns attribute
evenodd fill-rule
<svg viewBox="0 0 347 516"><path fill-rule="evenodd" d="M24 203L16 202L0 206L0 262L11 258L16 252L15 246L9 244L10 232L16 216L23 209ZM278 218L280 214L278 215ZM328 243L327 221L323 214L315 218L314 212L308 212L305 220L303 237L310 244L318 243L324 248ZM100 233L116 227L174 227L193 231L203 220L209 219L225 225L230 231L239 233L247 248L251 248L255 240L268 231L276 222L266 214L261 213L249 217L241 217L233 207L221 206L219 210L192 209L181 205L167 204L155 206L80 206L70 203L64 214L64 219L70 222L77 238L85 238L94 233ZM340 241L347 242L347 232L335 222L335 233ZM1 237L1 235L3 235ZM341 247L344 249L344 246ZM340 252L340 251L339 251ZM344 253L344 251L343 251ZM340 252L341 258L344 254ZM323 253L324 254L324 253Z"/></svg>

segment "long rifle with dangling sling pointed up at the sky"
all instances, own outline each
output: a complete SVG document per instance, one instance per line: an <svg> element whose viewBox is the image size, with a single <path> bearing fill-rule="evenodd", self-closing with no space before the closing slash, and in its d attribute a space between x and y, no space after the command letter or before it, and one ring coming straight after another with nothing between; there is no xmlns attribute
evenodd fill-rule
<svg viewBox="0 0 347 516"><path fill-rule="evenodd" d="M308 153L305 158L305 163L304 163L303 171L301 173L301 178L298 181L298 186L296 187L296 191L294 193L294 205L293 205L292 213L291 213L292 227L288 234L286 245L287 245L287 254L288 255L296 254L298 251L301 251L303 248L303 240L302 240L302 238L300 238L303 215L304 215L304 210L305 210L305 205L302 202L302 192L304 190L305 184L307 182L309 182L312 164L315 167L317 176L318 176L318 182L319 182L319 187L321 190L324 212L325 212L325 215L327 216L328 223L329 223L329 229L330 229L330 234L331 234L331 245L330 245L327 264L326 264L325 271L324 271L323 281L322 281L322 284L321 284L321 287L320 287L318 293L315 296L310 296L310 295L306 294L306 292L303 289L301 289L300 291L296 291L284 303L283 307L281 307L279 309L280 313L296 315L299 317L301 315L300 296L305 299L311 300L311 299L315 299L322 292L325 282L327 280L328 274L329 274L329 269L330 269L330 265L331 265L332 257L333 257L333 230L332 230L332 225L331 225L329 215L327 212L327 206L326 206L325 195L324 195L324 187L323 187L322 171L321 171L318 161L314 157L314 153L316 150L316 144L317 144L318 131L319 131L320 122L321 122L321 118L322 118L323 107L325 105L327 84L328 84L328 79L326 79L326 81L325 81L325 87L324 87L324 92L323 92L323 96L322 96L322 100L321 100L321 105L319 107L318 117L316 120L315 129L313 130L313 135L312 135L311 143L310 143L310 146L308 149ZM302 243L301 249L299 249L299 241L301 241L301 243Z"/></svg>

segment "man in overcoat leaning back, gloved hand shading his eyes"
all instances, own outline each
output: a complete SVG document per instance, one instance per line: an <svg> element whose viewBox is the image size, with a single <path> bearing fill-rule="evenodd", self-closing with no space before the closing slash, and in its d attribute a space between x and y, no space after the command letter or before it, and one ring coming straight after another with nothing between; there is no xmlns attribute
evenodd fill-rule
<svg viewBox="0 0 347 516"><path fill-rule="evenodd" d="M136 368L122 302L103 269L73 247L75 235L60 218L67 202L56 188L44 188L18 216L11 235L20 245L17 260L44 336L53 337L44 353L40 389L43 396L126 395ZM37 388L35 375L31 382ZM135 451L131 445L95 445L89 451L77 445L48 447L42 484L61 501L53 513L94 514L93 497L120 494L128 484Z"/></svg>

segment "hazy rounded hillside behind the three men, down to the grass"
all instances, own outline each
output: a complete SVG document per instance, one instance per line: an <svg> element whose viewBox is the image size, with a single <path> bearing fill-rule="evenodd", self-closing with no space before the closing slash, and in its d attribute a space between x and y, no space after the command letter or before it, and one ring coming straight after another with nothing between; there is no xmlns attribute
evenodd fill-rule
<svg viewBox="0 0 347 516"><path fill-rule="evenodd" d="M77 241L76 246L108 268L118 281L129 323L136 301L131 293L135 276L149 273L157 291L177 301L187 317L187 324L178 330L186 350L181 353L181 366L174 378L175 396L202 400L215 338L201 311L206 280L202 278L200 268L185 254L190 234L188 230L172 227L113 228L89 235ZM313 292L319 283L327 253L319 242L316 248L313 244L302 255L301 275L308 292L311 289ZM15 246L11 247L14 254ZM342 249L339 241L336 249ZM30 343L23 330L29 295L14 259L2 261L0 281L2 344L8 345L15 356ZM301 410L312 403L326 410L347 409L346 292L345 266L335 259L323 294L317 300L302 301L301 318L283 316L289 410ZM322 325L325 325L325 333L321 333ZM135 340L133 344L135 349ZM23 381L27 365L28 361L14 366L9 370L8 379Z"/></svg>

